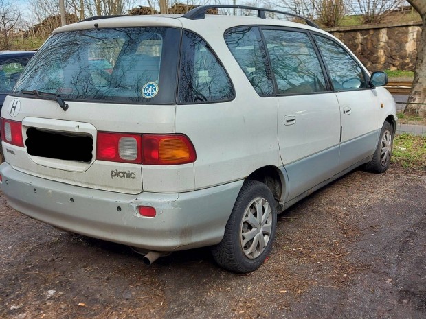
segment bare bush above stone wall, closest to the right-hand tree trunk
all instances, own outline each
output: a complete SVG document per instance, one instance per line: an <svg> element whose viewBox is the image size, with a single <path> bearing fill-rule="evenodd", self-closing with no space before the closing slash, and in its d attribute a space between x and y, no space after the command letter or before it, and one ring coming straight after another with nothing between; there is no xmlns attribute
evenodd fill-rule
<svg viewBox="0 0 426 319"><path fill-rule="evenodd" d="M405 0L355 0L352 1L352 10L361 13L364 23L380 23L404 2Z"/></svg>

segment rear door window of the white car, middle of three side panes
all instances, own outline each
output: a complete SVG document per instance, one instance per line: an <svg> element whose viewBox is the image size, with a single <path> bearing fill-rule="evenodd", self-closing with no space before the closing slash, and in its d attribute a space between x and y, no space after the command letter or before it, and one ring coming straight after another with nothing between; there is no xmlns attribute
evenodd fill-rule
<svg viewBox="0 0 426 319"><path fill-rule="evenodd" d="M303 32L262 30L279 94L326 91L320 60Z"/></svg>

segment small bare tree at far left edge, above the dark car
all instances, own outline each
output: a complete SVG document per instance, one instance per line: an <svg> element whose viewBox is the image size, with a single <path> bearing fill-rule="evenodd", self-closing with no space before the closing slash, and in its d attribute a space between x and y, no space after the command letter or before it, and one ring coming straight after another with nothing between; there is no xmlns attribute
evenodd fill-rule
<svg viewBox="0 0 426 319"><path fill-rule="evenodd" d="M10 36L21 19L21 12L16 4L0 0L0 44L1 49L10 49Z"/></svg>

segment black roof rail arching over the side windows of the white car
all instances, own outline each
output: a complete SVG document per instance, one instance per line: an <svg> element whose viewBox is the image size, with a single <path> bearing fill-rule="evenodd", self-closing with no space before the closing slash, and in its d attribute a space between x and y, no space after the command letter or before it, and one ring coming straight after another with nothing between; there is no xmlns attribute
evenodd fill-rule
<svg viewBox="0 0 426 319"><path fill-rule="evenodd" d="M257 10L258 12L258 18L266 19L265 12L274 12L274 13L280 13L280 14L286 14L287 16L294 16L295 18L302 19L306 22L307 25L311 27L316 27L317 29L320 29L320 27L313 23L311 20L304 18L303 16L299 16L298 14L293 14L290 12L284 12L284 11L278 11L278 10L272 10L272 9L265 9L265 8L258 8L258 7L251 7L249 5L202 5L200 7L194 8L186 14L183 14L183 18L190 19L190 20L200 20L205 18L205 14L209 9L220 9L220 8L236 8L236 9L248 9L248 10Z"/></svg>

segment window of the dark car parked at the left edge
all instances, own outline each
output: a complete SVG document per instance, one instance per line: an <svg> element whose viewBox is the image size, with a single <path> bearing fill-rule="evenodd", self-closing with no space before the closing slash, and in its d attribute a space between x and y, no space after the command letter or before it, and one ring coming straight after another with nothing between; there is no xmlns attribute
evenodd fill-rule
<svg viewBox="0 0 426 319"><path fill-rule="evenodd" d="M10 58L0 62L0 94L12 91L30 57Z"/></svg>

